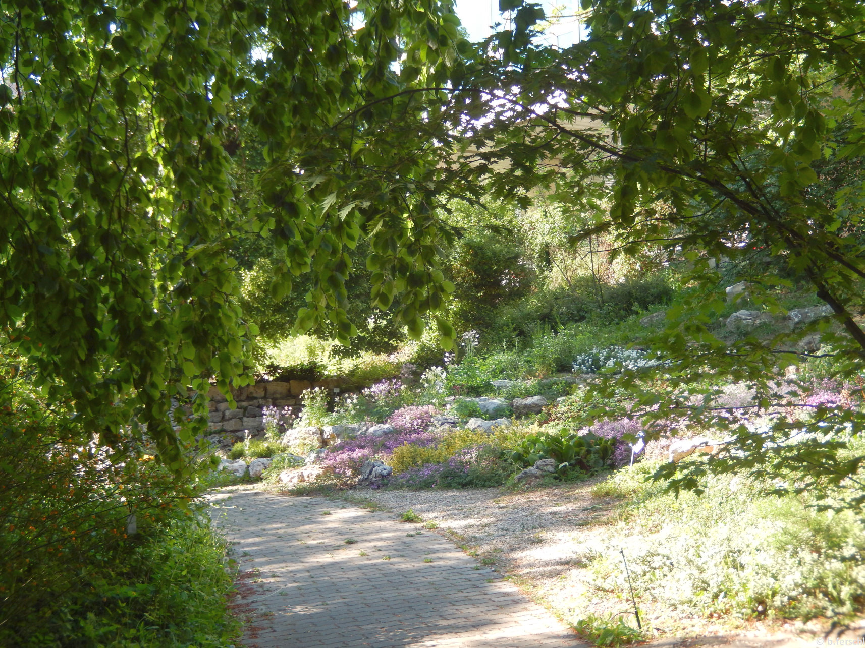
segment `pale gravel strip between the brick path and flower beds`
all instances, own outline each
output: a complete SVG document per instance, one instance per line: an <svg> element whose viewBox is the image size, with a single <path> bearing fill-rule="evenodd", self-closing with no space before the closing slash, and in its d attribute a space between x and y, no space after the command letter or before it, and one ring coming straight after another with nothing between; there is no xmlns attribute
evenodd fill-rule
<svg viewBox="0 0 865 648"><path fill-rule="evenodd" d="M616 500L593 496L592 486L601 479L528 491L356 490L350 496L373 500L395 513L411 509L426 522L438 524L439 530L465 550L494 564L535 601L569 623L589 613L616 614L636 626L631 600L598 588L593 579L593 552L602 550L610 534L628 531L626 524L618 522ZM784 620L704 618L645 601L640 610L644 628L658 648L817 648L817 636L828 629L828 624L819 621L803 625ZM845 636L854 634L848 631Z"/></svg>

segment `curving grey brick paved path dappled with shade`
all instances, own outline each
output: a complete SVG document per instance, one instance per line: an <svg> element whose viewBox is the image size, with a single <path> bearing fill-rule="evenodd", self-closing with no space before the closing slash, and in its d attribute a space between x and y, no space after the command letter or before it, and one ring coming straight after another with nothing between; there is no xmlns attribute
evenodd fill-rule
<svg viewBox="0 0 865 648"><path fill-rule="evenodd" d="M265 616L247 633L249 648L581 645L513 585L420 524L260 491L211 501L242 569L260 570L261 589L248 602Z"/></svg>

